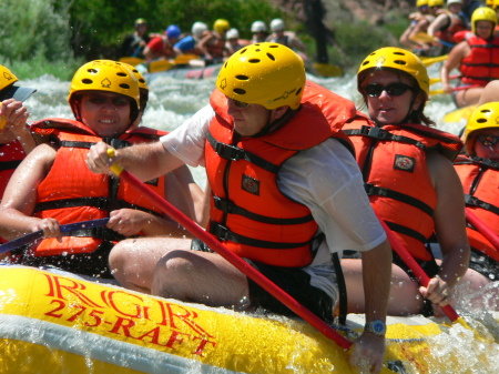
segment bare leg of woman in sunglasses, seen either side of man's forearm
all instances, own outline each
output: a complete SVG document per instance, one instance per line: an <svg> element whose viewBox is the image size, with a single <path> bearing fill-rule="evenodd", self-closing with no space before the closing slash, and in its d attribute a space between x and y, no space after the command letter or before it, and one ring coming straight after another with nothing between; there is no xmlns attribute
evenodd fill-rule
<svg viewBox="0 0 499 374"><path fill-rule="evenodd" d="M347 286L348 313L365 313L361 261L345 259L342 260L342 266ZM388 315L418 314L422 307L422 296L418 287L419 284L411 281L405 271L391 265Z"/></svg>

